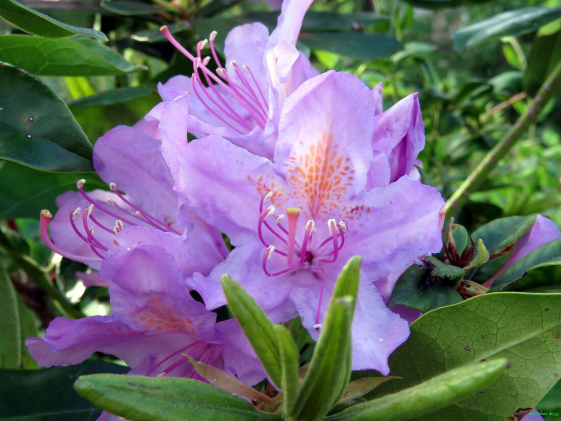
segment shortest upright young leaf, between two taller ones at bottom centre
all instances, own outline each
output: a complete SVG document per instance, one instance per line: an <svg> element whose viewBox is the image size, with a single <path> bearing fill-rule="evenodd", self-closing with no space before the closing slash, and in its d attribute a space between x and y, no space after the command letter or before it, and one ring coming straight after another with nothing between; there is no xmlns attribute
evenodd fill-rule
<svg viewBox="0 0 561 421"><path fill-rule="evenodd" d="M275 324L275 333L280 349L280 366L282 367L283 413L291 414L298 395L298 359L300 354L291 333L282 324Z"/></svg>

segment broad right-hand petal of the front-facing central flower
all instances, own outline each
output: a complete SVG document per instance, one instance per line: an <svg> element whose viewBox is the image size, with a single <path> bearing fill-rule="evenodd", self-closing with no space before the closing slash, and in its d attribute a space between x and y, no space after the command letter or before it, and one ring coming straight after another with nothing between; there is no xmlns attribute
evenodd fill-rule
<svg viewBox="0 0 561 421"><path fill-rule="evenodd" d="M407 268L415 258L442 248L444 201L438 190L407 176L388 187L364 191L347 222L339 258L362 255L362 268L379 279Z"/></svg>

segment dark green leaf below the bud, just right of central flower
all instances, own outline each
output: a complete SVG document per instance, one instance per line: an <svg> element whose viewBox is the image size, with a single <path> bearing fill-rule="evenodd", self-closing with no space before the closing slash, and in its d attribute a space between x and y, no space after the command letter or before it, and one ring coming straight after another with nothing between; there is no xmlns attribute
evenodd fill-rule
<svg viewBox="0 0 561 421"><path fill-rule="evenodd" d="M463 301L458 291L440 282L427 283L430 272L416 264L403 272L396 282L387 306L404 305L426 313L429 310Z"/></svg>

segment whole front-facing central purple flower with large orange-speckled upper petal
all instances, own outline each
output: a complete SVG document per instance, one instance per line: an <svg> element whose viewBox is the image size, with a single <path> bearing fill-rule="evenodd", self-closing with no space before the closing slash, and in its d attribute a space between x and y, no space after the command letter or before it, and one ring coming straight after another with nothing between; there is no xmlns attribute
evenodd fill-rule
<svg viewBox="0 0 561 421"><path fill-rule="evenodd" d="M300 315L317 338L337 274L362 255L353 369L387 374L408 327L372 281L440 250L443 200L407 176L389 184L386 155L372 145L375 107L356 77L317 76L284 103L274 163L209 136L180 156L175 188L236 245L208 278L188 280L209 309L226 303L219 278L229 273L275 322Z"/></svg>

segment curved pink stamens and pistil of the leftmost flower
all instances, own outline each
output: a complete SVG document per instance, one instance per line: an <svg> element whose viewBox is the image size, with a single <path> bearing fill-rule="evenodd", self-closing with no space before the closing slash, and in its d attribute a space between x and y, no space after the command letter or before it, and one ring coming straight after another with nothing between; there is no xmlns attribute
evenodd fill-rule
<svg viewBox="0 0 561 421"><path fill-rule="evenodd" d="M99 200L95 200L84 191L85 182L85 180L79 180L76 183L76 186L78 187L80 194L84 197L84 199L88 200L90 205L86 208L86 211L82 213L81 218L79 218L81 208L76 208L69 214L68 219L72 230L82 241L90 246L91 251L93 251L96 257L80 256L68 253L67 251L58 248L52 240L50 240L47 232L47 227L53 216L49 211L44 210L41 212L41 236L45 244L47 244L47 246L55 253L58 253L68 259L80 260L81 262L101 262L105 259L105 255L107 250L109 250L109 245L111 244L107 244L107 241L105 241L104 244L99 237L96 237L95 228L100 228L111 235L117 235L125 228L125 224L127 224L130 226L148 226L159 231L173 232L174 234L181 235L181 232L172 227L172 221L168 221L165 218L162 220L154 217L148 212L143 211L142 208L130 202L130 200L125 198L125 196L123 196L123 194L117 189L117 185L115 183L110 183L109 189L117 195L117 198L121 200L121 204L117 203L114 199L107 199L107 204L103 204L100 203ZM93 215L94 209L100 212L98 213L98 216L106 214L115 218L114 226L109 227L100 222ZM80 228L80 225L82 228ZM116 240L113 240L113 242L117 244Z"/></svg>

